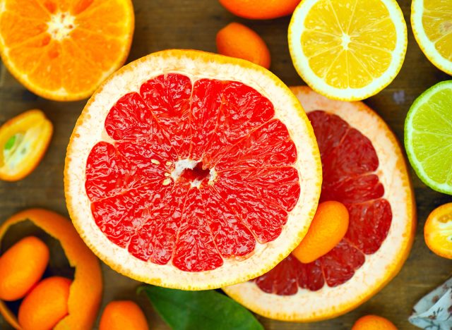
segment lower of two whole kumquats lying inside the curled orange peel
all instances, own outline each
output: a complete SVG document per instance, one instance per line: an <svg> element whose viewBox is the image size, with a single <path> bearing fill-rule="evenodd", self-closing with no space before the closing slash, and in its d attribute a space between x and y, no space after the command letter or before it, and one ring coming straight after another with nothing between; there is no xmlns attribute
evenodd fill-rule
<svg viewBox="0 0 452 330"><path fill-rule="evenodd" d="M60 276L43 279L20 304L18 319L23 330L53 329L68 314L72 281Z"/></svg>

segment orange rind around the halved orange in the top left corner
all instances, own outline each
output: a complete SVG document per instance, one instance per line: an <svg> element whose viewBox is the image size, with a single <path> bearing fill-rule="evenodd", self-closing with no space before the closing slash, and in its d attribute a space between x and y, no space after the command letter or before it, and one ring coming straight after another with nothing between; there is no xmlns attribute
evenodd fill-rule
<svg viewBox="0 0 452 330"><path fill-rule="evenodd" d="M6 68L8 68L8 71L11 73L11 75L14 76L20 82L23 86L27 87L28 90L31 92L39 95L40 97L44 97L45 99L52 99L53 101L78 101L81 99L86 99L87 97L90 97L90 95L95 92L97 87L104 81L109 75L114 73L114 71L117 71L118 68L120 68L126 61L127 56L129 56L130 47L132 44L132 37L133 37L133 30L135 30L135 14L133 12L133 4L131 0L121 0L119 1L121 3L121 6L124 10L124 16L122 17L124 20L124 23L126 23L126 31L124 32L124 35L126 35L126 38L124 39L124 48L122 49L120 56L117 59L117 62L112 65L112 67L103 73L102 76L99 77L99 80L97 84L93 85L93 88L90 90L83 90L81 92L71 92L68 93L63 87L61 87L59 90L53 90L49 91L45 88L40 87L39 85L34 84L30 81L28 78L28 73L24 73L23 71L20 71L16 65L14 64L14 61L12 61L8 57L8 47L6 47L6 44L4 42L4 38L0 35L0 57L3 61ZM6 4L2 6L0 4L0 17L1 13L6 11Z"/></svg>

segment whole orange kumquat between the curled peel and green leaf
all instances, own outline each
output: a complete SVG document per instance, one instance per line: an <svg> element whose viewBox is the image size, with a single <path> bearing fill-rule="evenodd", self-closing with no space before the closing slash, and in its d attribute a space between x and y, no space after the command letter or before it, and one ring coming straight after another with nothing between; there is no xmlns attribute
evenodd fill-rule
<svg viewBox="0 0 452 330"><path fill-rule="evenodd" d="M138 305L130 300L109 302L100 317L99 330L148 330L148 322Z"/></svg>

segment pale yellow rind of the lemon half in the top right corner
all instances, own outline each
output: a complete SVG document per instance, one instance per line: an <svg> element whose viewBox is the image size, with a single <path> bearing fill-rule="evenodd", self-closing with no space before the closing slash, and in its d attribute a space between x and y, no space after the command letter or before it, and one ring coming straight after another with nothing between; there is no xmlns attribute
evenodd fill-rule
<svg viewBox="0 0 452 330"><path fill-rule="evenodd" d="M434 66L445 73L452 75L452 62L448 61L448 59L445 59L444 56L439 54L439 51L436 50L434 43L425 33L424 26L422 24L423 14L424 0L413 0L411 4L411 25L417 44L419 44L425 56L427 56L429 61L431 61Z"/></svg>

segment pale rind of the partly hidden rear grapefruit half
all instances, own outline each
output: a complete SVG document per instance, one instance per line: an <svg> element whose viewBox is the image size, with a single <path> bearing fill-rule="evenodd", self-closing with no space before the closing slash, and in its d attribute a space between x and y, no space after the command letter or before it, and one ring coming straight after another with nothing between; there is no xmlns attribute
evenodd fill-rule
<svg viewBox="0 0 452 330"><path fill-rule="evenodd" d="M309 87L291 87L309 113L325 110L343 118L369 140L379 157L379 175L385 187L382 198L393 206L393 220L386 240L346 283L319 291L298 288L295 295L274 295L246 282L223 288L231 298L256 314L291 322L314 322L345 314L371 298L403 266L415 236L416 209L412 185L400 145L386 123L362 102L332 101ZM396 253L395 253L396 252Z"/></svg>

